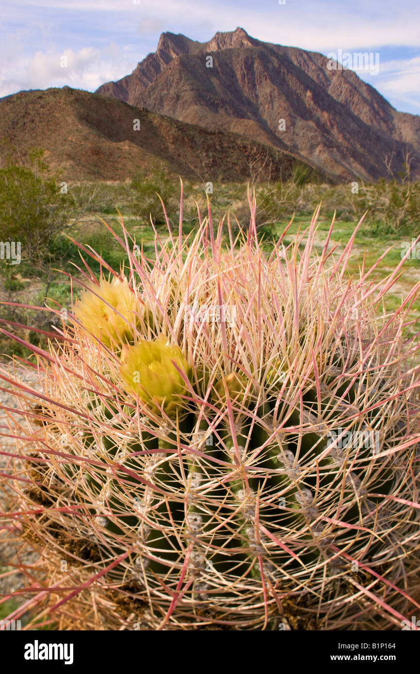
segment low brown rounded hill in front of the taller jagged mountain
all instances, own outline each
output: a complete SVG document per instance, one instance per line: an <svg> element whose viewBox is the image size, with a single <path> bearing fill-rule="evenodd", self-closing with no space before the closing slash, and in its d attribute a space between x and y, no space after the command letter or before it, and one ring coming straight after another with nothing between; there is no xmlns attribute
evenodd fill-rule
<svg viewBox="0 0 420 674"><path fill-rule="evenodd" d="M236 133L207 131L69 87L1 98L0 139L23 161L29 148L44 148L47 163L63 180L126 179L151 166L203 182L278 179L290 177L300 163Z"/></svg>

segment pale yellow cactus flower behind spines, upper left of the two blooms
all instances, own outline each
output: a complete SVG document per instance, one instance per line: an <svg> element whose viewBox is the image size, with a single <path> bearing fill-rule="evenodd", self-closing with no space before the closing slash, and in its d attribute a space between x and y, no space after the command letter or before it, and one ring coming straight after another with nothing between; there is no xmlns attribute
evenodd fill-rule
<svg viewBox="0 0 420 674"><path fill-rule="evenodd" d="M127 280L102 278L99 287L92 286L92 290L99 297L86 290L76 304L75 313L84 330L107 346L132 338L139 307Z"/></svg>

